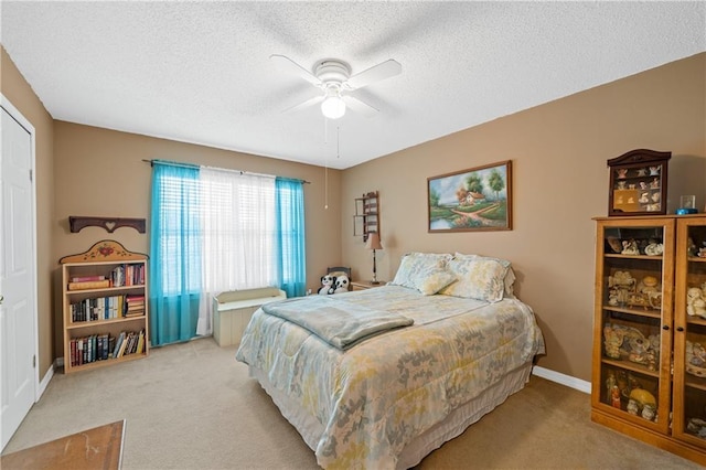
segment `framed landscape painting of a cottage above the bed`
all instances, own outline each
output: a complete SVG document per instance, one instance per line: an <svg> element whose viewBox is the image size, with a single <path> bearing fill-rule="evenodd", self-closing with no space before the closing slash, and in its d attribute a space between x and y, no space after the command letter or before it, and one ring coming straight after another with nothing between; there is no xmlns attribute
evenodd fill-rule
<svg viewBox="0 0 706 470"><path fill-rule="evenodd" d="M429 232L512 229L512 162L427 179Z"/></svg>

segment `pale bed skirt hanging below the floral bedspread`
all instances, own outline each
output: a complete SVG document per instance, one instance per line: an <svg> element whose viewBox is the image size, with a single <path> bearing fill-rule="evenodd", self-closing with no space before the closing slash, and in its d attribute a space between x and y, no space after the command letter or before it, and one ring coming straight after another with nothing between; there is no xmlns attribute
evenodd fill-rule
<svg viewBox="0 0 706 470"><path fill-rule="evenodd" d="M266 373L255 367L248 368L250 376L260 383L282 416L297 429L307 446L315 451L323 434L323 425L314 416L306 413L297 403L289 399L286 394L271 386ZM461 435L470 425L493 410L510 395L524 388L531 373L532 362L527 362L505 374L503 378L488 387L481 395L452 410L443 421L417 436L403 449L397 458L397 468L408 469L416 466L431 451L441 447L443 442Z"/></svg>

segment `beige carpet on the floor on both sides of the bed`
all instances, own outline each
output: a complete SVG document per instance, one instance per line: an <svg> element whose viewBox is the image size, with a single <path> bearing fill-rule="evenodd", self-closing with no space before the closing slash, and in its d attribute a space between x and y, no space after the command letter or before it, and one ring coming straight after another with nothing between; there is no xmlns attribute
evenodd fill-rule
<svg viewBox="0 0 706 470"><path fill-rule="evenodd" d="M317 461L234 348L212 339L150 356L56 374L3 453L126 419L122 468L313 469ZM530 384L419 469L688 469L668 452L590 423L589 396Z"/></svg>

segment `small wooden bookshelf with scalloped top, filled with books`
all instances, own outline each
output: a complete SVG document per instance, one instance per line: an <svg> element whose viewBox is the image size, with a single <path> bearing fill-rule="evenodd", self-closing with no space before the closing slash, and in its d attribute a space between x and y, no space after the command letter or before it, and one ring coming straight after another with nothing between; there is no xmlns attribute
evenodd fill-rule
<svg viewBox="0 0 706 470"><path fill-rule="evenodd" d="M60 260L64 373L149 354L147 260L115 241Z"/></svg>

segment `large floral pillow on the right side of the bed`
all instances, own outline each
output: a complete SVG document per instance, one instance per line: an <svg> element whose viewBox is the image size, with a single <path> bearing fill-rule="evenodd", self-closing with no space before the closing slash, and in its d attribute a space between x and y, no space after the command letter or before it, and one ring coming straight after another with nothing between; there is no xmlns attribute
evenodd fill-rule
<svg viewBox="0 0 706 470"><path fill-rule="evenodd" d="M510 261L483 256L457 256L449 261L449 270L458 280L439 293L488 302L503 299L505 276ZM514 275L513 275L514 276Z"/></svg>

